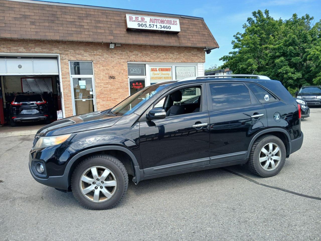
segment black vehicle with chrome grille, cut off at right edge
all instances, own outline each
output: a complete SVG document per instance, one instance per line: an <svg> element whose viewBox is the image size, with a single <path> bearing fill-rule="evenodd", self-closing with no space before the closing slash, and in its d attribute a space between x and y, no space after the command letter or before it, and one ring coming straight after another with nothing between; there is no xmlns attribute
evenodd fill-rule
<svg viewBox="0 0 321 241"><path fill-rule="evenodd" d="M321 105L321 86L303 86L295 94L298 99L304 100L308 106Z"/></svg>

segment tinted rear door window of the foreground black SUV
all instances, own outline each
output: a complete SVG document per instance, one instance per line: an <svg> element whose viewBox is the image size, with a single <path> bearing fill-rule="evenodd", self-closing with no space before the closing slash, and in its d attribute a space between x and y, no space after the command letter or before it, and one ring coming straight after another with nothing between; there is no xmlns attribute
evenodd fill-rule
<svg viewBox="0 0 321 241"><path fill-rule="evenodd" d="M210 84L213 110L251 104L250 93L242 83Z"/></svg>

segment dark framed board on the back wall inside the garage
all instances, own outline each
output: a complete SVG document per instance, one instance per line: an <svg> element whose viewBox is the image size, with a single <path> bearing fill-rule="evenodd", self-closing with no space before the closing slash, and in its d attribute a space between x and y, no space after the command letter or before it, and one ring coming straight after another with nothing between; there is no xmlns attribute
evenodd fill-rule
<svg viewBox="0 0 321 241"><path fill-rule="evenodd" d="M51 78L21 78L22 92L52 92Z"/></svg>

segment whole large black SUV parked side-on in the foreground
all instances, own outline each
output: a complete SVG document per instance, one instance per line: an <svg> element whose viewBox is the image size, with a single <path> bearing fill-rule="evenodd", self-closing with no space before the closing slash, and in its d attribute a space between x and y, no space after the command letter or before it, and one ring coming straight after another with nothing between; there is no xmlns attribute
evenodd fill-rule
<svg viewBox="0 0 321 241"><path fill-rule="evenodd" d="M40 129L29 168L39 183L72 191L89 209L117 205L128 175L137 184L246 163L251 172L271 177L302 145L299 108L279 81L267 77L161 82L109 110Z"/></svg>

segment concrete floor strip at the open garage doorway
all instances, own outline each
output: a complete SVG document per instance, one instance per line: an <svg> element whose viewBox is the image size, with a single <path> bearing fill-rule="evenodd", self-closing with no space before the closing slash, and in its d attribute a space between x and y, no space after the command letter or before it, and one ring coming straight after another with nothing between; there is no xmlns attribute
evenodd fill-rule
<svg viewBox="0 0 321 241"><path fill-rule="evenodd" d="M22 123L15 127L10 125L0 126L0 137L35 135L45 124Z"/></svg>

